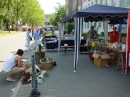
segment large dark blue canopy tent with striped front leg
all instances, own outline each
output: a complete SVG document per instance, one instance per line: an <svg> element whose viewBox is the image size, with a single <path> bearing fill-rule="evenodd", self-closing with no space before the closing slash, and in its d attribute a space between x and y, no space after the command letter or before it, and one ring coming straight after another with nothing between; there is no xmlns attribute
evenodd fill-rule
<svg viewBox="0 0 130 97"><path fill-rule="evenodd" d="M76 12L72 18L75 21L75 53L74 53L74 72L77 69L78 63L78 51L79 51L79 41L80 41L80 29L79 29L79 22L80 18L85 18L87 20L97 20L101 19L105 21L105 33L107 33L108 29L108 20L112 18L127 18L128 11L130 9L127 8L120 8L120 7L113 7L113 6L106 6L95 4L89 8Z"/></svg>

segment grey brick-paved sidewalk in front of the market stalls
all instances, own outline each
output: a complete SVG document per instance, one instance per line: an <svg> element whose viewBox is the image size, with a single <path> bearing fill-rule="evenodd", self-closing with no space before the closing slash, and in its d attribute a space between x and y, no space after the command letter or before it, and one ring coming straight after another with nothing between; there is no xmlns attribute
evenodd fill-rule
<svg viewBox="0 0 130 97"><path fill-rule="evenodd" d="M27 53L31 55L32 52ZM46 52L46 56L53 58L57 66L48 70L50 77L38 84L40 97L130 97L130 74L122 75L121 70L116 70L116 64L99 68L87 54L79 54L77 72L74 73L73 51L60 56L51 51ZM19 85L16 96L12 97L29 97L31 84Z"/></svg>

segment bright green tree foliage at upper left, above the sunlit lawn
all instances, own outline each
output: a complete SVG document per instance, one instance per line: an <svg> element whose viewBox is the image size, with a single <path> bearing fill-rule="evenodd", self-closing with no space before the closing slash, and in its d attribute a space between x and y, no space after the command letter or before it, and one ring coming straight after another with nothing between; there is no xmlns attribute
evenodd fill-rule
<svg viewBox="0 0 130 97"><path fill-rule="evenodd" d="M44 24L44 11L37 0L0 0L0 19L0 25L18 24L21 20L29 26L41 26Z"/></svg>

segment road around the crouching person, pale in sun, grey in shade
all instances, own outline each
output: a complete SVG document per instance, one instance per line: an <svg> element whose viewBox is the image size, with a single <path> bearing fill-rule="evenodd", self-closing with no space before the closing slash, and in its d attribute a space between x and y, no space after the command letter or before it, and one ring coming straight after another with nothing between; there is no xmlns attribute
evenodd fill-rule
<svg viewBox="0 0 130 97"><path fill-rule="evenodd" d="M10 97L11 89L14 88L21 76L17 77L16 82L7 82L6 76L1 72L4 61L17 49L25 50L25 32L0 37L0 97ZM26 53L25 53L26 54Z"/></svg>

